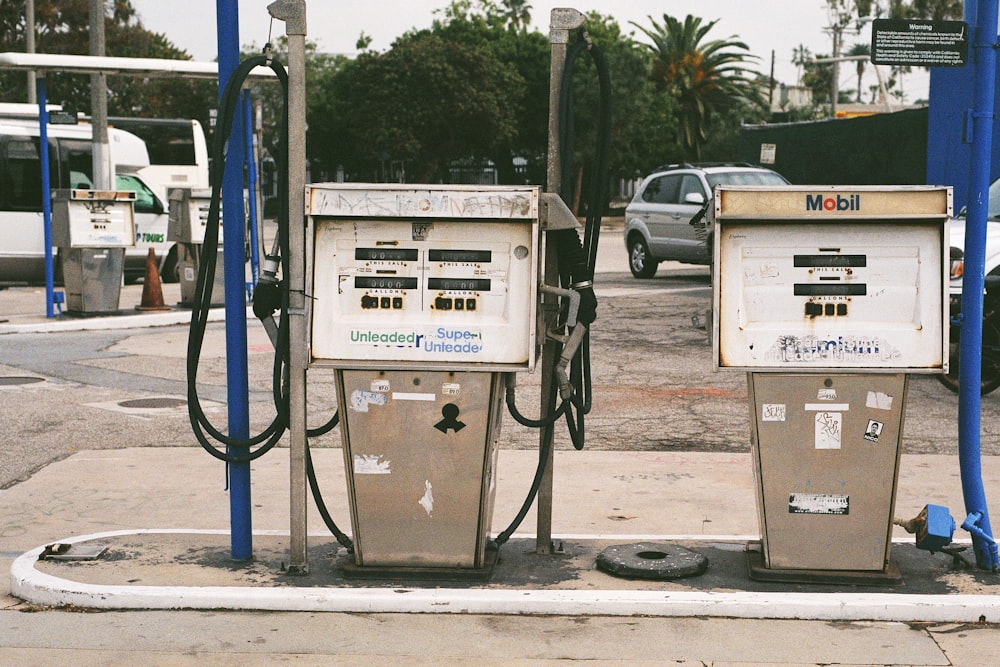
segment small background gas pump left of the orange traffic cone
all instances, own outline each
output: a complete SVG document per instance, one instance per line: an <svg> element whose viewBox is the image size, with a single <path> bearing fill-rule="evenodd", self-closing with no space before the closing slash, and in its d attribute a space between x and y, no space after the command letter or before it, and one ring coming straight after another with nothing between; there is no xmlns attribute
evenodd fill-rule
<svg viewBox="0 0 1000 667"><path fill-rule="evenodd" d="M118 310L125 248L135 245L134 202L132 191L53 191L52 243L62 258L69 312Z"/></svg>

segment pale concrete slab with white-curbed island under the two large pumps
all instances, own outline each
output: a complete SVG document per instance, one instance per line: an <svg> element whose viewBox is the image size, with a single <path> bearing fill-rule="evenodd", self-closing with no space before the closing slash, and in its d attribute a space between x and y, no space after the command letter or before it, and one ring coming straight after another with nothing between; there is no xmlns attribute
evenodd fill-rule
<svg viewBox="0 0 1000 667"><path fill-rule="evenodd" d="M316 450L314 458L331 513L349 527L340 450ZM902 518L927 502L960 501L958 479L938 472L951 463L903 457ZM501 452L494 534L516 513L534 464L533 452ZM751 580L744 549L759 533L749 455L559 451L555 472L553 524L561 549L533 555L530 513L483 583L345 578L349 556L324 534L315 510L310 572L287 576L283 449L253 464L259 534L250 563L230 558L223 466L194 448L81 452L0 491L0 505L8 508L3 555L12 561L13 594L46 606L1000 622L995 575L953 569L950 557L916 550L899 528L893 558L901 585ZM984 477L988 486L1000 484L1000 461L987 459ZM635 542L691 548L709 558L709 571L649 582L595 568L607 546ZM52 543L108 551L90 562L39 561Z"/></svg>

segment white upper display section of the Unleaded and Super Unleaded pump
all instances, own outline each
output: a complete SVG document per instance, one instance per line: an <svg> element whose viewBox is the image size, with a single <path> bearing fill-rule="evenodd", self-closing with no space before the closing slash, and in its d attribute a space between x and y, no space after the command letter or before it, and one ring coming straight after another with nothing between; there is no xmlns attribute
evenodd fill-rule
<svg viewBox="0 0 1000 667"><path fill-rule="evenodd" d="M309 210L314 361L533 367L537 190L320 184Z"/></svg>

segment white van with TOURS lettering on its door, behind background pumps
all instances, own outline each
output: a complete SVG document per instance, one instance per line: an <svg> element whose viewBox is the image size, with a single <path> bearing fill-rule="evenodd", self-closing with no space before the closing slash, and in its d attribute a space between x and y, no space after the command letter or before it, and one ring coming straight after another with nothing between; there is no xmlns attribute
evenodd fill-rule
<svg viewBox="0 0 1000 667"><path fill-rule="evenodd" d="M0 284L45 280L38 132L37 118L0 118ZM48 135L51 189L91 187L91 126L50 125ZM136 244L125 252L125 279L145 276L146 256L153 248L164 280L170 280L176 276L171 265L176 252L170 252L166 240L167 209L137 173L149 165L145 144L116 128L109 128L108 144L116 187L136 192Z"/></svg>

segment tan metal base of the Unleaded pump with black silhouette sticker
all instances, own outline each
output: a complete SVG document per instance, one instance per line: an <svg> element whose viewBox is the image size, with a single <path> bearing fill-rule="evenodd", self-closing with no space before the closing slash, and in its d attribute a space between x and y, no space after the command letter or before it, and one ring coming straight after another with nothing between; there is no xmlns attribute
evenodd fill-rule
<svg viewBox="0 0 1000 667"><path fill-rule="evenodd" d="M356 563L484 567L503 375L337 375Z"/></svg>

